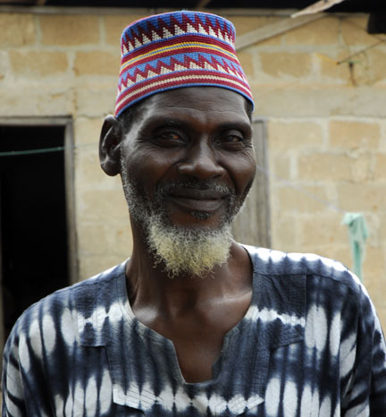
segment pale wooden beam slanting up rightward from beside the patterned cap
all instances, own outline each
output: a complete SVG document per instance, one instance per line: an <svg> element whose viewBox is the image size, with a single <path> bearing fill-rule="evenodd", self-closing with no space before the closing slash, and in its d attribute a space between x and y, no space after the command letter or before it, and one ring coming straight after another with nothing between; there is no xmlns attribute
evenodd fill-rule
<svg viewBox="0 0 386 417"><path fill-rule="evenodd" d="M281 21L275 21L269 25L263 26L256 30L251 30L244 35L236 37L236 49L240 50L244 47L262 42L265 39L273 38L274 36L281 35L289 30L303 26L311 21L317 21L325 16L323 13L307 14L306 16L300 16L296 19L286 18Z"/></svg>

